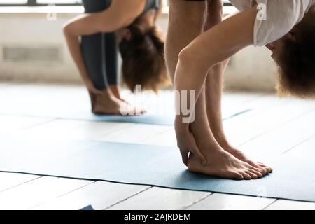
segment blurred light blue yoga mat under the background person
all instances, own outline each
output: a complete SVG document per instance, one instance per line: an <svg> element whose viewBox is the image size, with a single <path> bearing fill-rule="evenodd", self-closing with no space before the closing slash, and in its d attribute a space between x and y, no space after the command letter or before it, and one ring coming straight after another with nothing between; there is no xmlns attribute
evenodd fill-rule
<svg viewBox="0 0 315 224"><path fill-rule="evenodd" d="M97 116L90 110L90 98L84 88L24 86L6 90L0 95L0 114L10 116L34 116L41 118L63 118L121 123L143 123L152 125L174 124L174 94L165 91L159 95L130 95L128 102L148 110L141 116ZM231 106L223 100L223 118L228 119L251 111L246 106Z"/></svg>

